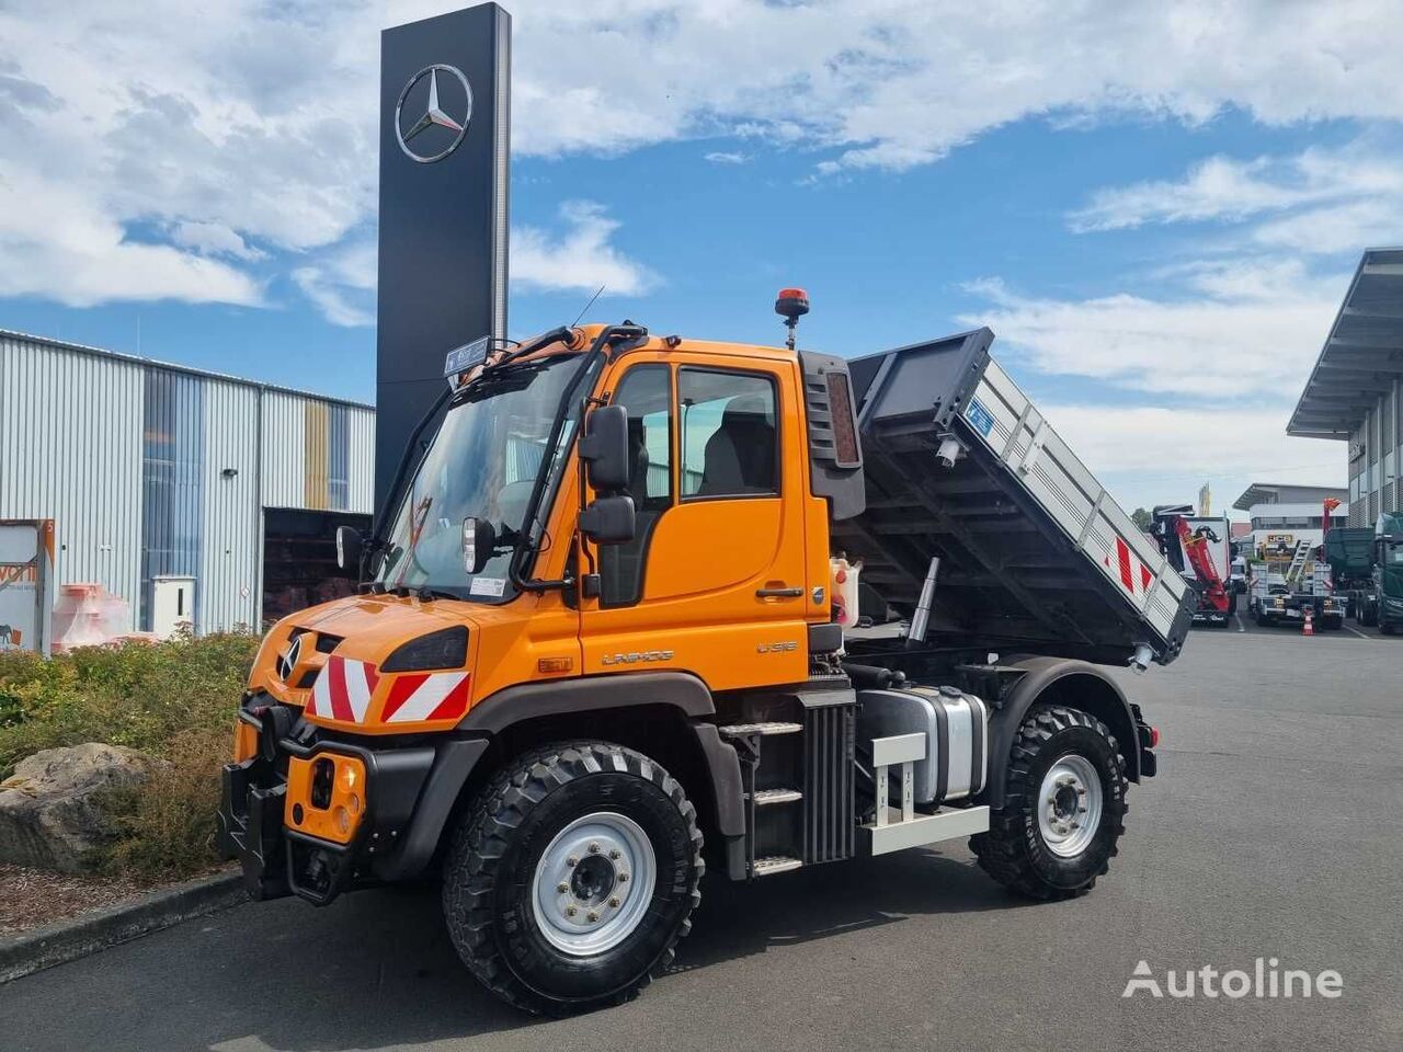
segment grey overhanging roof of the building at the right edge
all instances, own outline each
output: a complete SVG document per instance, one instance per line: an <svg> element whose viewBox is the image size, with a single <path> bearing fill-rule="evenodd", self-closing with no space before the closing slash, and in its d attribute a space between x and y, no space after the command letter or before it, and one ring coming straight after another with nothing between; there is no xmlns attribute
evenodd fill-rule
<svg viewBox="0 0 1403 1052"><path fill-rule="evenodd" d="M1287 433L1348 439L1400 376L1403 248L1367 248Z"/></svg>

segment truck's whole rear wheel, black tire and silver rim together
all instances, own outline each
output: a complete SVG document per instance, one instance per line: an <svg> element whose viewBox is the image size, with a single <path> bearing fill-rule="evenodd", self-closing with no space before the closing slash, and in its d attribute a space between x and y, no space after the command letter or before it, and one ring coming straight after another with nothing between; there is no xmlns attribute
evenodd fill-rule
<svg viewBox="0 0 1403 1052"><path fill-rule="evenodd" d="M1125 832L1125 759L1100 720L1034 706L1013 742L1003 807L971 837L979 865L1034 899L1085 895Z"/></svg>

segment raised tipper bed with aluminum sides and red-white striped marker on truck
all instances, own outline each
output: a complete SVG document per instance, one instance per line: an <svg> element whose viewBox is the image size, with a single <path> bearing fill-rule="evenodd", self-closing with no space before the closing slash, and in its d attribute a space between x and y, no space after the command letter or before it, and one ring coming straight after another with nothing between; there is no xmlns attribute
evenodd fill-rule
<svg viewBox="0 0 1403 1052"><path fill-rule="evenodd" d="M989 355L993 332L849 363L867 508L835 550L906 619L939 558L925 642L1167 665L1193 589ZM918 624L920 617L916 619Z"/></svg>

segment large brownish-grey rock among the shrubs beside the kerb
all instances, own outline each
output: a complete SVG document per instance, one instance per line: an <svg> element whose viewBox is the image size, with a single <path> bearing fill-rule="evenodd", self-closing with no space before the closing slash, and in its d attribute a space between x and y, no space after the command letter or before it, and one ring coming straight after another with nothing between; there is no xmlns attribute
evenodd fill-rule
<svg viewBox="0 0 1403 1052"><path fill-rule="evenodd" d="M146 780L156 760L122 745L43 749L0 781L0 861L87 872L115 832L94 794Z"/></svg>

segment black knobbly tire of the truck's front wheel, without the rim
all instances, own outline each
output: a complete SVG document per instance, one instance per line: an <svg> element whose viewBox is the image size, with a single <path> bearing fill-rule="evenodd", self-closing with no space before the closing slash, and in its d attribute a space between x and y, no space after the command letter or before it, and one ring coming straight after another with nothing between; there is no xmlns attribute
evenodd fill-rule
<svg viewBox="0 0 1403 1052"><path fill-rule="evenodd" d="M540 933L533 877L554 835L595 811L644 829L657 882L623 943L571 957ZM631 1000L672 962L704 868L696 809L666 770L620 745L556 743L515 757L463 812L443 860L443 917L459 957L498 997L535 1014L588 1011Z"/></svg>

